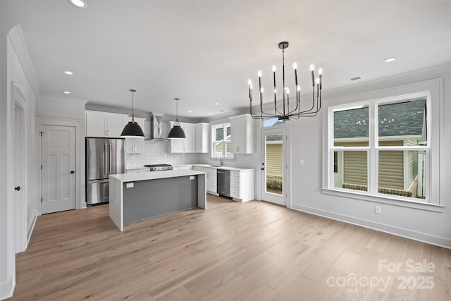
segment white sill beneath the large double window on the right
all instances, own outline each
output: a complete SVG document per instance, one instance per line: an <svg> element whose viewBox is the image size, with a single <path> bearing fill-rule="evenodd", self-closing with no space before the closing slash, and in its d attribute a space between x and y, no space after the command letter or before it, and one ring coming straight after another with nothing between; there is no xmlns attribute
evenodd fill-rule
<svg viewBox="0 0 451 301"><path fill-rule="evenodd" d="M421 209L426 211L443 212L444 206L431 204L426 202L416 202L407 199L397 199L395 197L386 197L385 195L369 195L364 192L354 192L342 189L322 188L321 191L325 195L336 195L338 197L350 197L352 199L361 199L368 202L377 202L381 204L389 204L400 207L408 207L413 209Z"/></svg>

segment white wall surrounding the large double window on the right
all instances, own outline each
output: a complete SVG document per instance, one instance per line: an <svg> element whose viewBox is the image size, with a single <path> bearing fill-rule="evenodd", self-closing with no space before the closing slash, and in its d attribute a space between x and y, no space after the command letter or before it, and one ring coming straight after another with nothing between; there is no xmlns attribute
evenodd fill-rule
<svg viewBox="0 0 451 301"><path fill-rule="evenodd" d="M440 140L440 185L443 194L440 203L443 212L425 211L381 204L362 199L326 195L321 192L323 182L323 131L327 107L337 104L338 97L358 99L357 94L369 93L389 87L407 85L414 82L443 78L443 139ZM365 100L365 99L362 99ZM437 103L434 103L435 105ZM398 75L355 85L342 90L323 94L322 116L301 118L290 121L292 126L292 208L312 214L327 216L389 233L395 233L416 240L431 242L436 245L451 247L451 65L419 70L414 73ZM299 159L304 165L297 164ZM374 214L374 205L382 207L382 214Z"/></svg>

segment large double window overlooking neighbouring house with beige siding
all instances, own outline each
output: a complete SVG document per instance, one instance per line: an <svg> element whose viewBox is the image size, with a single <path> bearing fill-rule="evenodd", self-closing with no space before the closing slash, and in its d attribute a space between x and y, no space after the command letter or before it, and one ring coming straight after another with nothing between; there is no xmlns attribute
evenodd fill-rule
<svg viewBox="0 0 451 301"><path fill-rule="evenodd" d="M439 123L431 118L438 117L436 110L431 113L431 94L330 106L327 188L440 204L438 147L433 147L431 137L431 128L438 130Z"/></svg>

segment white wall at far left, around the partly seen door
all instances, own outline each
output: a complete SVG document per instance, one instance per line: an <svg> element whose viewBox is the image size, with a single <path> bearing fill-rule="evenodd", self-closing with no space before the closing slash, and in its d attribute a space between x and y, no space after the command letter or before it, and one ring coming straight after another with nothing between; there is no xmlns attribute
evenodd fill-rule
<svg viewBox="0 0 451 301"><path fill-rule="evenodd" d="M40 88L30 65L20 25L9 27L1 20L0 30L0 299L11 296L16 283L15 211L14 211L14 148L13 114L14 86L25 99L25 216L23 221L30 235L36 218L36 94ZM10 29L11 30L8 30ZM8 30L8 31L7 31ZM24 233L26 235L27 233ZM20 238L25 241L26 237Z"/></svg>

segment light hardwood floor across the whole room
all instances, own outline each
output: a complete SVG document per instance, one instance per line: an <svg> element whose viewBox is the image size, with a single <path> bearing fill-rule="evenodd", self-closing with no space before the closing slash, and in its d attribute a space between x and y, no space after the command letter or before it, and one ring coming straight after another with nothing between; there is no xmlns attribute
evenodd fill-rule
<svg viewBox="0 0 451 301"><path fill-rule="evenodd" d="M39 216L16 269L13 300L451 300L451 250L211 195L123 233L108 206Z"/></svg>

